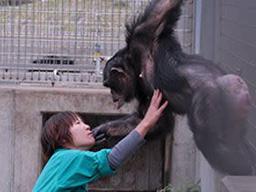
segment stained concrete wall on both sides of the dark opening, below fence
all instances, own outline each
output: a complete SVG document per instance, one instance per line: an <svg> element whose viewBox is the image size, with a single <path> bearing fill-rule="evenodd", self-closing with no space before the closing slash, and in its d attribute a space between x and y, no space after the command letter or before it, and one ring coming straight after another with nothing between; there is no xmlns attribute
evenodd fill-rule
<svg viewBox="0 0 256 192"><path fill-rule="evenodd" d="M41 169L39 133L45 112L125 114L133 104L113 109L109 90L35 86L0 87L0 191L31 191ZM197 151L186 117L177 117L165 145L165 185L182 187L198 179ZM168 179L167 179L168 177Z"/></svg>

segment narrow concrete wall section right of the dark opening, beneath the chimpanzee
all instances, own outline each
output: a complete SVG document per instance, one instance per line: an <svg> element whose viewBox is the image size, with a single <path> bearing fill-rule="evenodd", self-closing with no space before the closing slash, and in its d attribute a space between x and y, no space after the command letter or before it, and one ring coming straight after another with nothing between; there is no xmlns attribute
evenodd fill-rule
<svg viewBox="0 0 256 192"><path fill-rule="evenodd" d="M199 161L193 133L189 130L187 116L176 116L176 126L172 142L170 184L186 191L197 183Z"/></svg>

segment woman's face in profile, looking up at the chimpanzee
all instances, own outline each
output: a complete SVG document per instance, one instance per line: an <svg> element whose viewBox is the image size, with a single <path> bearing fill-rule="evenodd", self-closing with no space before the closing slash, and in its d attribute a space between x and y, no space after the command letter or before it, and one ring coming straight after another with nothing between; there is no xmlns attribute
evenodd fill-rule
<svg viewBox="0 0 256 192"><path fill-rule="evenodd" d="M73 147L76 149L89 150L95 144L91 127L83 123L80 118L70 127L73 139Z"/></svg>

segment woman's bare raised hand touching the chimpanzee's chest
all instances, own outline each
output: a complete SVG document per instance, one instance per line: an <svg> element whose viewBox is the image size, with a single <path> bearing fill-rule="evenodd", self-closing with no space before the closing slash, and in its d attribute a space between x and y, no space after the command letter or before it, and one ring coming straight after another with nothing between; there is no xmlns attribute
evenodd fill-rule
<svg viewBox="0 0 256 192"><path fill-rule="evenodd" d="M144 115L144 119L135 128L135 130L142 136L155 125L168 105L168 101L165 101L165 103L160 106L161 101L162 93L159 90L155 90L148 110Z"/></svg>

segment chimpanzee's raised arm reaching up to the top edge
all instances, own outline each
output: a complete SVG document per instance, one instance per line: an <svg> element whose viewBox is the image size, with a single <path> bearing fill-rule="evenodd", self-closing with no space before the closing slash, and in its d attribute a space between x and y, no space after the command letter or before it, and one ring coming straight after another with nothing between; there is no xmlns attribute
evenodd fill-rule
<svg viewBox="0 0 256 192"><path fill-rule="evenodd" d="M157 39L165 29L168 13L176 7L181 0L153 1L145 9L144 15L137 19L131 27L126 38L131 52L131 59L135 71L146 81L152 81L154 71L154 55L158 47Z"/></svg>

